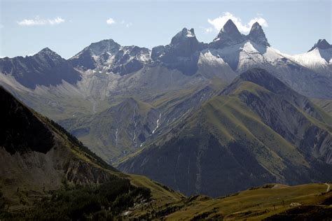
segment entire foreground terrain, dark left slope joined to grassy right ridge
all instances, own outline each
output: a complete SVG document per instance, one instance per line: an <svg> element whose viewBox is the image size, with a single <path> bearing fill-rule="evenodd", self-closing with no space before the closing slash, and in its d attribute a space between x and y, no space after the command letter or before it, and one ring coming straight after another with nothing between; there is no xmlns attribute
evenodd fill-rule
<svg viewBox="0 0 332 221"><path fill-rule="evenodd" d="M0 218L202 220L331 217L330 184L251 187L225 197L184 197L120 173L53 120L0 87ZM265 197L261 197L264 195ZM236 202L241 201L241 204ZM300 215L299 215L300 214Z"/></svg>

